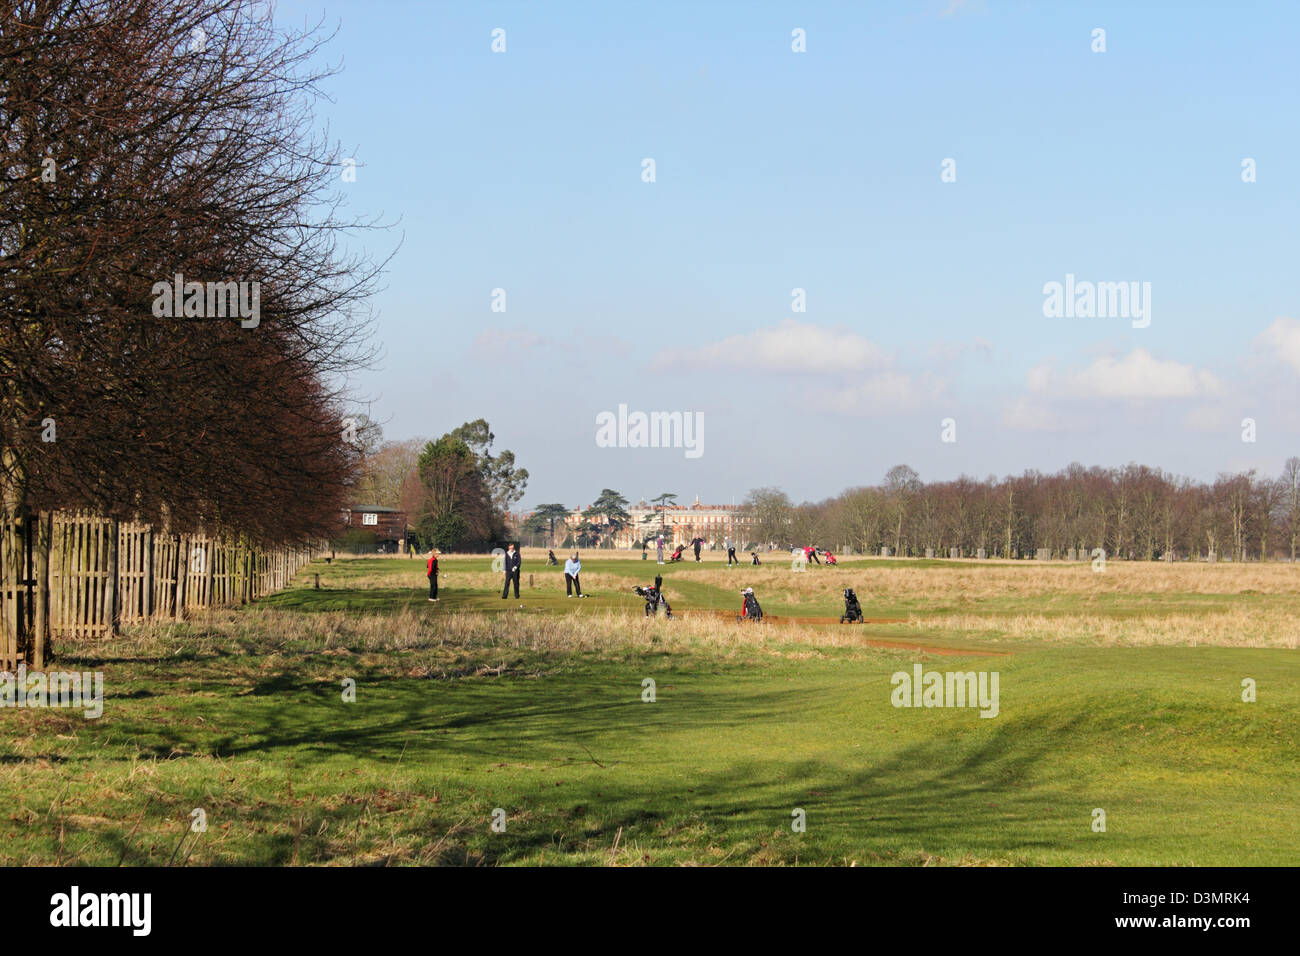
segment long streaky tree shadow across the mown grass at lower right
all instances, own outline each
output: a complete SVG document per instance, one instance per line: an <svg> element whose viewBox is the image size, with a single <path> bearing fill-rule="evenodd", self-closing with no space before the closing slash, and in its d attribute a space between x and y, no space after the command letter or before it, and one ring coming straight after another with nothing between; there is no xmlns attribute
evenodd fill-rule
<svg viewBox="0 0 1300 956"><path fill-rule="evenodd" d="M581 831L572 840L608 843L621 829L624 840L663 845L660 825L667 823L670 832L702 827L706 845L748 843L758 851L762 842L792 832L792 812L800 808L809 832L822 838L803 844L803 852L822 858L848 851L888 861L907 847L932 853L975 847L996 858L1072 848L1061 839L1062 819L1071 812L1062 793L1083 782L1058 757L1097 731L1087 714L1061 708L965 740L936 735L889 753L866 753L857 766L774 754L724 767L699 765L694 774L664 767L650 787L610 777L599 784L594 813L575 821ZM545 791L537 800L546 800ZM1084 801L1074 812L1082 843L1089 832ZM533 858L552 844L554 826L523 827L500 838L493 858Z"/></svg>

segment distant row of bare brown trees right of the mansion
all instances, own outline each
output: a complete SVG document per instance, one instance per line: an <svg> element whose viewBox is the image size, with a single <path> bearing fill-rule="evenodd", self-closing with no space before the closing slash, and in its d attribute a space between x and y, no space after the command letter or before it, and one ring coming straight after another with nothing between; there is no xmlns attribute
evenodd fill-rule
<svg viewBox="0 0 1300 956"><path fill-rule="evenodd" d="M1277 479L1254 471L1192 481L1144 464L1044 475L922 483L907 466L879 485L818 503L792 505L777 489L750 493L757 540L819 544L879 554L1032 557L1049 549L1179 559L1296 559L1300 551L1300 458Z"/></svg>

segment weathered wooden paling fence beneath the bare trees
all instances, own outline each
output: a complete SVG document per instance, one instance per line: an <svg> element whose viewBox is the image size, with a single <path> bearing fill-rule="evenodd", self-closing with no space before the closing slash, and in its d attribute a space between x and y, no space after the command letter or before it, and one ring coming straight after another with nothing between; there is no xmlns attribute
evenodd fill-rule
<svg viewBox="0 0 1300 956"><path fill-rule="evenodd" d="M95 640L120 624L248 604L285 588L316 553L84 512L0 515L0 670L34 663L38 633Z"/></svg>

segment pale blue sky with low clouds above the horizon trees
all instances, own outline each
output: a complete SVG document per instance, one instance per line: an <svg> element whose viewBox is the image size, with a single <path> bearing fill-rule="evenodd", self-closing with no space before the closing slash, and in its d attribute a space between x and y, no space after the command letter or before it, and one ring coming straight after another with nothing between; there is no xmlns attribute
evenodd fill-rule
<svg viewBox="0 0 1300 956"><path fill-rule="evenodd" d="M400 220L354 389L390 438L486 418L524 506L1300 454L1297 5L278 10L338 25L342 189ZM1067 273L1149 282L1150 325L1045 317ZM703 454L598 447L620 403Z"/></svg>

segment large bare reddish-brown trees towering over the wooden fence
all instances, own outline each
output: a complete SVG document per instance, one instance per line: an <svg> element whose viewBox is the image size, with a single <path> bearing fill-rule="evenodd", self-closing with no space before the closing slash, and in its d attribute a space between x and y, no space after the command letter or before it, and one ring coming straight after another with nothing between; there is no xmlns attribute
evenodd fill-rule
<svg viewBox="0 0 1300 956"><path fill-rule="evenodd" d="M260 544L328 532L377 267L315 120L318 30L256 0L0 14L0 483ZM256 291L252 319L212 286ZM179 287L183 299L160 307Z"/></svg>

